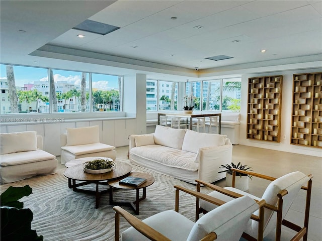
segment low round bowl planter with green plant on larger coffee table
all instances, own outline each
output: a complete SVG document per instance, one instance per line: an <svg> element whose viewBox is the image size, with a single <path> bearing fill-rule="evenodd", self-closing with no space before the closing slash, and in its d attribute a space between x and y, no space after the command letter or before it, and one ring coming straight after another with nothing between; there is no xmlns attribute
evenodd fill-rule
<svg viewBox="0 0 322 241"><path fill-rule="evenodd" d="M83 164L84 172L99 174L111 171L115 167L115 163L108 158L97 158L93 161L88 161Z"/></svg>

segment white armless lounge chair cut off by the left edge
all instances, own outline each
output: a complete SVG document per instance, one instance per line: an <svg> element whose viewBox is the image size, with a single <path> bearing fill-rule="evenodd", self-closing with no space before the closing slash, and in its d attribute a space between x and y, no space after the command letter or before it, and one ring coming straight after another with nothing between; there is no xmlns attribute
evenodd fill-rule
<svg viewBox="0 0 322 241"><path fill-rule="evenodd" d="M54 174L56 157L42 149L42 136L35 131L2 133L0 150L1 183L10 183L36 175Z"/></svg>

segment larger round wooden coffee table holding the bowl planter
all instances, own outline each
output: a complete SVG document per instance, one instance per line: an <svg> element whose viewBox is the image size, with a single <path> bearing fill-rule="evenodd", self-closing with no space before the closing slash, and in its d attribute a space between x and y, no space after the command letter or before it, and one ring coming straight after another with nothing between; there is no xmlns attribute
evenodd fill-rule
<svg viewBox="0 0 322 241"><path fill-rule="evenodd" d="M100 204L101 194L106 193L109 190L106 189L99 191L99 185L108 185L107 181L125 177L131 172L131 170L132 167L129 164L115 161L115 168L112 171L102 174L90 174L84 172L83 164L78 164L67 168L64 172L64 176L68 178L68 187L72 188L73 191L95 193L95 207L98 208ZM76 181L81 182L76 183ZM91 183L96 184L96 191L77 188L79 186L84 186Z"/></svg>

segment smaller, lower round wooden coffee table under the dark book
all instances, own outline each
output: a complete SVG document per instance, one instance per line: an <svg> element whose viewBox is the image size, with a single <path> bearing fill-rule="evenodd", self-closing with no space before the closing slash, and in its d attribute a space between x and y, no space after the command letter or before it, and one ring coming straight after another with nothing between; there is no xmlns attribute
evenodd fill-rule
<svg viewBox="0 0 322 241"><path fill-rule="evenodd" d="M133 210L135 211L135 214L139 214L139 202L146 198L146 187L152 185L154 183L154 177L148 173L143 172L131 172L127 177L140 177L145 178L146 182L142 183L139 186L130 186L126 184L120 184L119 181L123 178L118 178L114 180L109 180L107 183L110 185L110 204L129 204ZM115 189L127 189L127 190L136 190L136 200L135 201L122 201L122 202L115 202L113 201L113 188ZM139 190L143 188L143 195L142 197L139 197Z"/></svg>

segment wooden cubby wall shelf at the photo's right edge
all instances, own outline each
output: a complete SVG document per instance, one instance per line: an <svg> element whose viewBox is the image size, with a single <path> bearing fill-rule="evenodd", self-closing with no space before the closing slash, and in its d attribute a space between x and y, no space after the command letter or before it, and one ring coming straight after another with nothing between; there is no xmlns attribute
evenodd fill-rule
<svg viewBox="0 0 322 241"><path fill-rule="evenodd" d="M322 73L293 75L293 145L322 148Z"/></svg>

